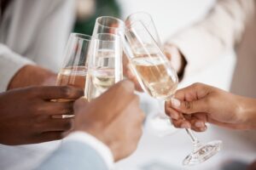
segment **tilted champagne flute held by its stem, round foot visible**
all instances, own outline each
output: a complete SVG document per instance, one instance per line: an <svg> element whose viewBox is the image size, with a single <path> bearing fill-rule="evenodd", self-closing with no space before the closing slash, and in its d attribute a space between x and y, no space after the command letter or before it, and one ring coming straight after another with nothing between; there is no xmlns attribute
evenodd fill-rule
<svg viewBox="0 0 256 170"><path fill-rule="evenodd" d="M131 68L149 95L156 99L170 100L177 89L177 74L165 54L142 22L133 22L125 30L125 53L131 60ZM219 140L202 144L191 129L186 129L194 145L194 150L183 160L183 165L191 166L207 161L220 150Z"/></svg>

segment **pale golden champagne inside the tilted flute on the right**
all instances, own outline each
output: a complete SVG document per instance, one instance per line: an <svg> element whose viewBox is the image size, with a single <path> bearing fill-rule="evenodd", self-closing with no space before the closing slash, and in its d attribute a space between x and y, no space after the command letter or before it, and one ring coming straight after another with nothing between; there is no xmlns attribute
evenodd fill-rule
<svg viewBox="0 0 256 170"><path fill-rule="evenodd" d="M131 59L137 77L143 82L144 90L157 99L170 99L177 88L177 77L169 73L166 62L157 54Z"/></svg>

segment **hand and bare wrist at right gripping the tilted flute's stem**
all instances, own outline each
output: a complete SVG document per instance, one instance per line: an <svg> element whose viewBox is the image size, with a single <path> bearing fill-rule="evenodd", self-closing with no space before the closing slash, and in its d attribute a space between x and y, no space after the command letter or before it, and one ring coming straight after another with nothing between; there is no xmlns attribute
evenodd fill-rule
<svg viewBox="0 0 256 170"><path fill-rule="evenodd" d="M252 114L243 112L246 111L243 103L247 103L247 99L218 88L195 83L188 88L178 90L175 99L166 102L166 114L172 117L175 127L191 127L195 131L205 131L206 122L221 127L249 129L253 127L253 122L249 123L248 115ZM255 122L256 117L254 124Z"/></svg>

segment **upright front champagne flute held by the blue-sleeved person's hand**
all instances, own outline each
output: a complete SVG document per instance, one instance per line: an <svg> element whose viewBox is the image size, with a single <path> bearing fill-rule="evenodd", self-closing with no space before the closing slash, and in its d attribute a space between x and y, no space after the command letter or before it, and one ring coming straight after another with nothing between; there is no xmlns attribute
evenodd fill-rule
<svg viewBox="0 0 256 170"><path fill-rule="evenodd" d="M99 33L92 38L85 96L95 99L114 83L122 80L122 47L120 38L110 33Z"/></svg>

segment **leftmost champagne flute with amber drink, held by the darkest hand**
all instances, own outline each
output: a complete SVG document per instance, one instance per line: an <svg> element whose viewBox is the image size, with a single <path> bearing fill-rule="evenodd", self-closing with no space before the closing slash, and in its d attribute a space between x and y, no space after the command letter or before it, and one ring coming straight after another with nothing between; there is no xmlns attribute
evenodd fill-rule
<svg viewBox="0 0 256 170"><path fill-rule="evenodd" d="M72 33L68 39L61 70L58 73L56 86L85 87L87 75L87 58L89 55L91 37ZM68 99L55 99L56 102L66 102ZM61 118L73 117L62 115Z"/></svg>

